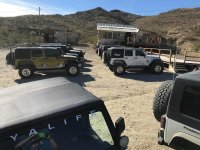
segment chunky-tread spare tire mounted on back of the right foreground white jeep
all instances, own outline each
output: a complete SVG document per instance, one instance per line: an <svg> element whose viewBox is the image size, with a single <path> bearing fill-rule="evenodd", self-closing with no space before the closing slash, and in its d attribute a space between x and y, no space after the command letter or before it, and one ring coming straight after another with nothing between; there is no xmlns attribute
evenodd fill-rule
<svg viewBox="0 0 200 150"><path fill-rule="evenodd" d="M163 82L157 90L153 101L153 114L157 121L166 114L169 97L174 85L173 80Z"/></svg>

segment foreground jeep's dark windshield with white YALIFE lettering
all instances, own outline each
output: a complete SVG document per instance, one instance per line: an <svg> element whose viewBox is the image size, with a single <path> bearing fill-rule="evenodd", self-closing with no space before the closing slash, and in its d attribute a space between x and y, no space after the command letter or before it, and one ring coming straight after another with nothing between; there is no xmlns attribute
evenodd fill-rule
<svg viewBox="0 0 200 150"><path fill-rule="evenodd" d="M30 125L0 141L2 150L107 150L113 145L102 113L95 111Z"/></svg>

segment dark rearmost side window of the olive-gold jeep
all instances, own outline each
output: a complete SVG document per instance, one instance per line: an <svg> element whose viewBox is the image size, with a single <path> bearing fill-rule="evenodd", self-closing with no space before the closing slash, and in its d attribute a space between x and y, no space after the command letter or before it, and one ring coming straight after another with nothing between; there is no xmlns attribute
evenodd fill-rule
<svg viewBox="0 0 200 150"><path fill-rule="evenodd" d="M30 49L16 49L15 50L15 59L30 59L31 50Z"/></svg>

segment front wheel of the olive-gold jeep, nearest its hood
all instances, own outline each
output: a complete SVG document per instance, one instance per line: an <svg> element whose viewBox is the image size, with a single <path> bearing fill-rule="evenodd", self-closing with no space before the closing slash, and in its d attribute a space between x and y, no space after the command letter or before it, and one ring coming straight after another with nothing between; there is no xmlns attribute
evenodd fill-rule
<svg viewBox="0 0 200 150"><path fill-rule="evenodd" d="M80 68L76 63L70 63L66 66L66 74L68 76L77 76L80 73Z"/></svg>

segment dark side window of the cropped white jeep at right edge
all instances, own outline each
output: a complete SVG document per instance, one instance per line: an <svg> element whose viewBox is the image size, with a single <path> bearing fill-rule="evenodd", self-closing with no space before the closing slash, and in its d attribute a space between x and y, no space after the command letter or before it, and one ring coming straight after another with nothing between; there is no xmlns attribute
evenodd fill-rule
<svg viewBox="0 0 200 150"><path fill-rule="evenodd" d="M200 120L200 88L187 86L184 89L180 112Z"/></svg>

